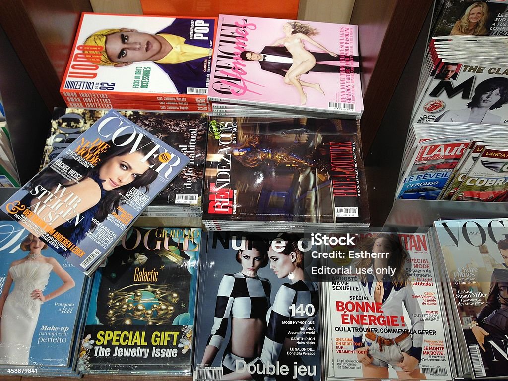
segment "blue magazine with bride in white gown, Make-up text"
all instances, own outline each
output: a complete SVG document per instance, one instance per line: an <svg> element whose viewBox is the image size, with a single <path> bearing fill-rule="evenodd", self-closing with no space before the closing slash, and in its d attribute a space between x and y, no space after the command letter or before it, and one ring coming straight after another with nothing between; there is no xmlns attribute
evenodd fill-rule
<svg viewBox="0 0 508 381"><path fill-rule="evenodd" d="M27 375L72 366L88 278L15 221L0 221L0 252L0 366Z"/></svg>

